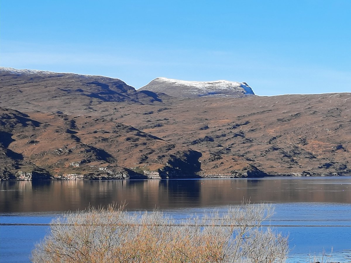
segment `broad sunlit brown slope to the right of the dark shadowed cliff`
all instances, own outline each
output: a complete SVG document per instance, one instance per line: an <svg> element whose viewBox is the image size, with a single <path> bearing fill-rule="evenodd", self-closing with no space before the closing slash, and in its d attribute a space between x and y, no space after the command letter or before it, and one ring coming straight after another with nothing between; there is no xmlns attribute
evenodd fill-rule
<svg viewBox="0 0 351 263"><path fill-rule="evenodd" d="M135 127L201 152L204 176L236 174L246 165L269 174L346 174L350 101L350 93L184 99L143 115Z"/></svg>

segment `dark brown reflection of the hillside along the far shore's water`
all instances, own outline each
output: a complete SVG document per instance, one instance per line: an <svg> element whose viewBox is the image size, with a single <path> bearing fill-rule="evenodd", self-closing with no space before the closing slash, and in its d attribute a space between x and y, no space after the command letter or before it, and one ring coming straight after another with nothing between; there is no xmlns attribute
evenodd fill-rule
<svg viewBox="0 0 351 263"><path fill-rule="evenodd" d="M1 182L1 212L67 211L126 200L128 210L252 202L351 203L351 178Z"/></svg>

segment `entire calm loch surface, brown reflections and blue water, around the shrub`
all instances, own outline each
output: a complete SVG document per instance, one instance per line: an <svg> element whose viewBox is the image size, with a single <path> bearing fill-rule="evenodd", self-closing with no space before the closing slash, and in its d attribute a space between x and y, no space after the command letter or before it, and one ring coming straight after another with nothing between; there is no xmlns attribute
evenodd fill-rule
<svg viewBox="0 0 351 263"><path fill-rule="evenodd" d="M244 197L275 204L266 223L289 234L288 262L332 248L335 261L351 262L351 177L0 182L0 262L28 262L47 224L67 210L126 200L130 211L156 206L185 218Z"/></svg>

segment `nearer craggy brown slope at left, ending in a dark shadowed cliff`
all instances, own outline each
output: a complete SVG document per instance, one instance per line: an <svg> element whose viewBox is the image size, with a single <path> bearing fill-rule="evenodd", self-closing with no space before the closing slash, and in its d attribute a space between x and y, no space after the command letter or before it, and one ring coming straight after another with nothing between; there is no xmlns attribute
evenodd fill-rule
<svg viewBox="0 0 351 263"><path fill-rule="evenodd" d="M32 113L23 120L23 115L0 108L0 122L6 123L2 178L186 177L200 170L200 153L104 117ZM143 171L141 163L147 164Z"/></svg>

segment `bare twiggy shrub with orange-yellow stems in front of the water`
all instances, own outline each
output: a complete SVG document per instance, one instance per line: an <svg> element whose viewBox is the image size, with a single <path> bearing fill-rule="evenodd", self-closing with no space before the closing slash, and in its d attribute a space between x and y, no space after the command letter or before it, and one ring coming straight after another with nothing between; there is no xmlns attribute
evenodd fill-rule
<svg viewBox="0 0 351 263"><path fill-rule="evenodd" d="M287 237L261 228L272 213L243 202L179 222L159 210L89 208L54 220L32 262L285 262Z"/></svg>

